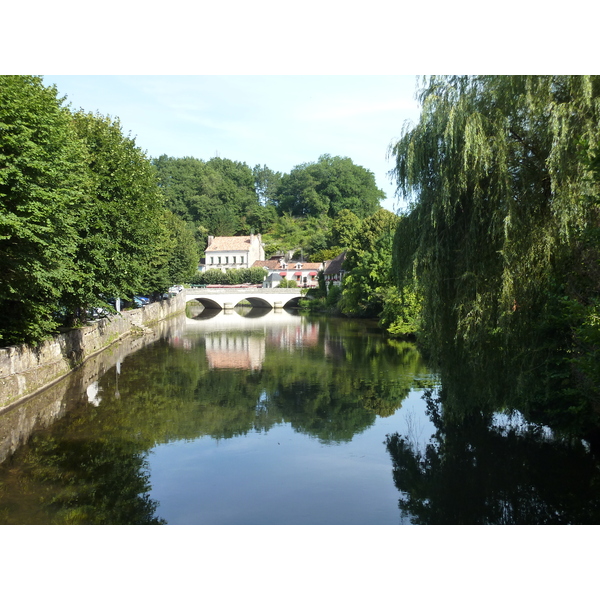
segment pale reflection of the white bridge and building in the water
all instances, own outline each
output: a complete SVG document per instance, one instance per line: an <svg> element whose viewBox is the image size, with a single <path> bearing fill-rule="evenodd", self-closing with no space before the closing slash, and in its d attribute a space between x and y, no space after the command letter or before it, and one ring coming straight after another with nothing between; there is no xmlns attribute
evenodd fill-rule
<svg viewBox="0 0 600 600"><path fill-rule="evenodd" d="M188 307L187 314L186 336L180 343L188 347L204 343L211 369L257 370L267 347L294 352L319 339L319 323L286 309Z"/></svg>

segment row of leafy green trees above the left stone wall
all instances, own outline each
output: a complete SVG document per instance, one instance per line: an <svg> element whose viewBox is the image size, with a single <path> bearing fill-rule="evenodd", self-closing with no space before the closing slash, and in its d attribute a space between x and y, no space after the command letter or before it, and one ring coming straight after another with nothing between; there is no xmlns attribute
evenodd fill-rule
<svg viewBox="0 0 600 600"><path fill-rule="evenodd" d="M39 77L0 77L2 345L185 280L189 235L118 120L71 112Z"/></svg>

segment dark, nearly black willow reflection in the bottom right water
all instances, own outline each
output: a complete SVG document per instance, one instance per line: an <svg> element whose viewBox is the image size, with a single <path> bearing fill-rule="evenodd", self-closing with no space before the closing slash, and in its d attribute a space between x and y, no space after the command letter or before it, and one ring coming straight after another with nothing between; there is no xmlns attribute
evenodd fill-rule
<svg viewBox="0 0 600 600"><path fill-rule="evenodd" d="M600 472L580 439L537 425L498 423L490 411L453 414L424 395L437 428L425 449L388 435L403 517L415 524L596 524ZM444 405L445 406L445 405Z"/></svg>

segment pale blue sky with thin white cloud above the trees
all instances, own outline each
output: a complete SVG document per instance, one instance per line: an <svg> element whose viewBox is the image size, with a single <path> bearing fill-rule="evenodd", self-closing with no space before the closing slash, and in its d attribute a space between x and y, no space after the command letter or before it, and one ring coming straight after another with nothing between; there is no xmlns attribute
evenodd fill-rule
<svg viewBox="0 0 600 600"><path fill-rule="evenodd" d="M151 157L213 156L289 173L322 154L375 175L388 210L401 205L390 144L415 121L411 75L48 75L73 109L118 117Z"/></svg>

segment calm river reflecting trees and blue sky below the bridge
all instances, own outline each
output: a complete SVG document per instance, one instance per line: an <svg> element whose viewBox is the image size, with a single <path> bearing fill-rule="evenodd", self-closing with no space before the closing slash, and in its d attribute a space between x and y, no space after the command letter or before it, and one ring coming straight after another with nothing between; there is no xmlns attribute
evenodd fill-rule
<svg viewBox="0 0 600 600"><path fill-rule="evenodd" d="M514 413L445 419L436 372L370 321L161 327L0 416L0 523L600 520L584 442Z"/></svg>

